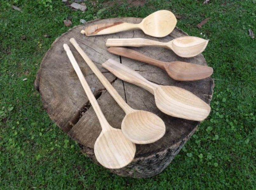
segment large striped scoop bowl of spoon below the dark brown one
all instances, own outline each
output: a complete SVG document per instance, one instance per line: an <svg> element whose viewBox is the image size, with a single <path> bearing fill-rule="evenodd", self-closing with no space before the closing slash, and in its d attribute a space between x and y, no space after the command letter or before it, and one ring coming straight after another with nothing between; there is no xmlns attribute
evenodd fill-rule
<svg viewBox="0 0 256 190"><path fill-rule="evenodd" d="M154 94L158 109L174 117L202 121L211 111L208 104L183 88L159 85Z"/></svg>

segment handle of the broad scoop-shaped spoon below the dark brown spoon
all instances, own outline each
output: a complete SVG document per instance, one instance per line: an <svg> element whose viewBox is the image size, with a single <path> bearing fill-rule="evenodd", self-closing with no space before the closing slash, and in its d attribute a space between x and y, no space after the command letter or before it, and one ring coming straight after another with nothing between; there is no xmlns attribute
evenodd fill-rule
<svg viewBox="0 0 256 190"><path fill-rule="evenodd" d="M107 60L105 63L102 64L102 66L109 70L111 73L113 73L115 76L117 76L119 79L138 85L152 94L154 94L154 90L158 86L143 78L136 71L112 59Z"/></svg>

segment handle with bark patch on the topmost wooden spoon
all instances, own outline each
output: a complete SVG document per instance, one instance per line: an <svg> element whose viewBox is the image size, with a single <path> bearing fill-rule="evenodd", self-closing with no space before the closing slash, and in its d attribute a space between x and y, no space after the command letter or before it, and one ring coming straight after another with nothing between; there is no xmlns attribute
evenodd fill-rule
<svg viewBox="0 0 256 190"><path fill-rule="evenodd" d="M114 22L114 23L103 23L92 26L87 26L84 30L81 30L82 34L86 36L112 34L125 30L138 29L139 24L132 24L127 22Z"/></svg>

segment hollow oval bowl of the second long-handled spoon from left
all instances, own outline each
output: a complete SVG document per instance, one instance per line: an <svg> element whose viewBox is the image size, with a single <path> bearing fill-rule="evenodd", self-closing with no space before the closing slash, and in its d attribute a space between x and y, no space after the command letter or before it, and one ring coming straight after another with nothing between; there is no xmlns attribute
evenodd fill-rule
<svg viewBox="0 0 256 190"><path fill-rule="evenodd" d="M154 143L165 134L165 124L156 114L135 110L127 114L121 124L121 130L131 142L136 144Z"/></svg>

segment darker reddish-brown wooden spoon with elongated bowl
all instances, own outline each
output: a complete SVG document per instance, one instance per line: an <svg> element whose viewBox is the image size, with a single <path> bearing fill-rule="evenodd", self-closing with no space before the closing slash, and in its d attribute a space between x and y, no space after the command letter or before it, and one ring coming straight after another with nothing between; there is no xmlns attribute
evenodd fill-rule
<svg viewBox="0 0 256 190"><path fill-rule="evenodd" d="M163 62L143 55L135 50L125 47L109 47L110 53L142 61L150 65L158 66L165 70L175 80L191 81L210 77L213 73L212 67L187 63L183 61Z"/></svg>

